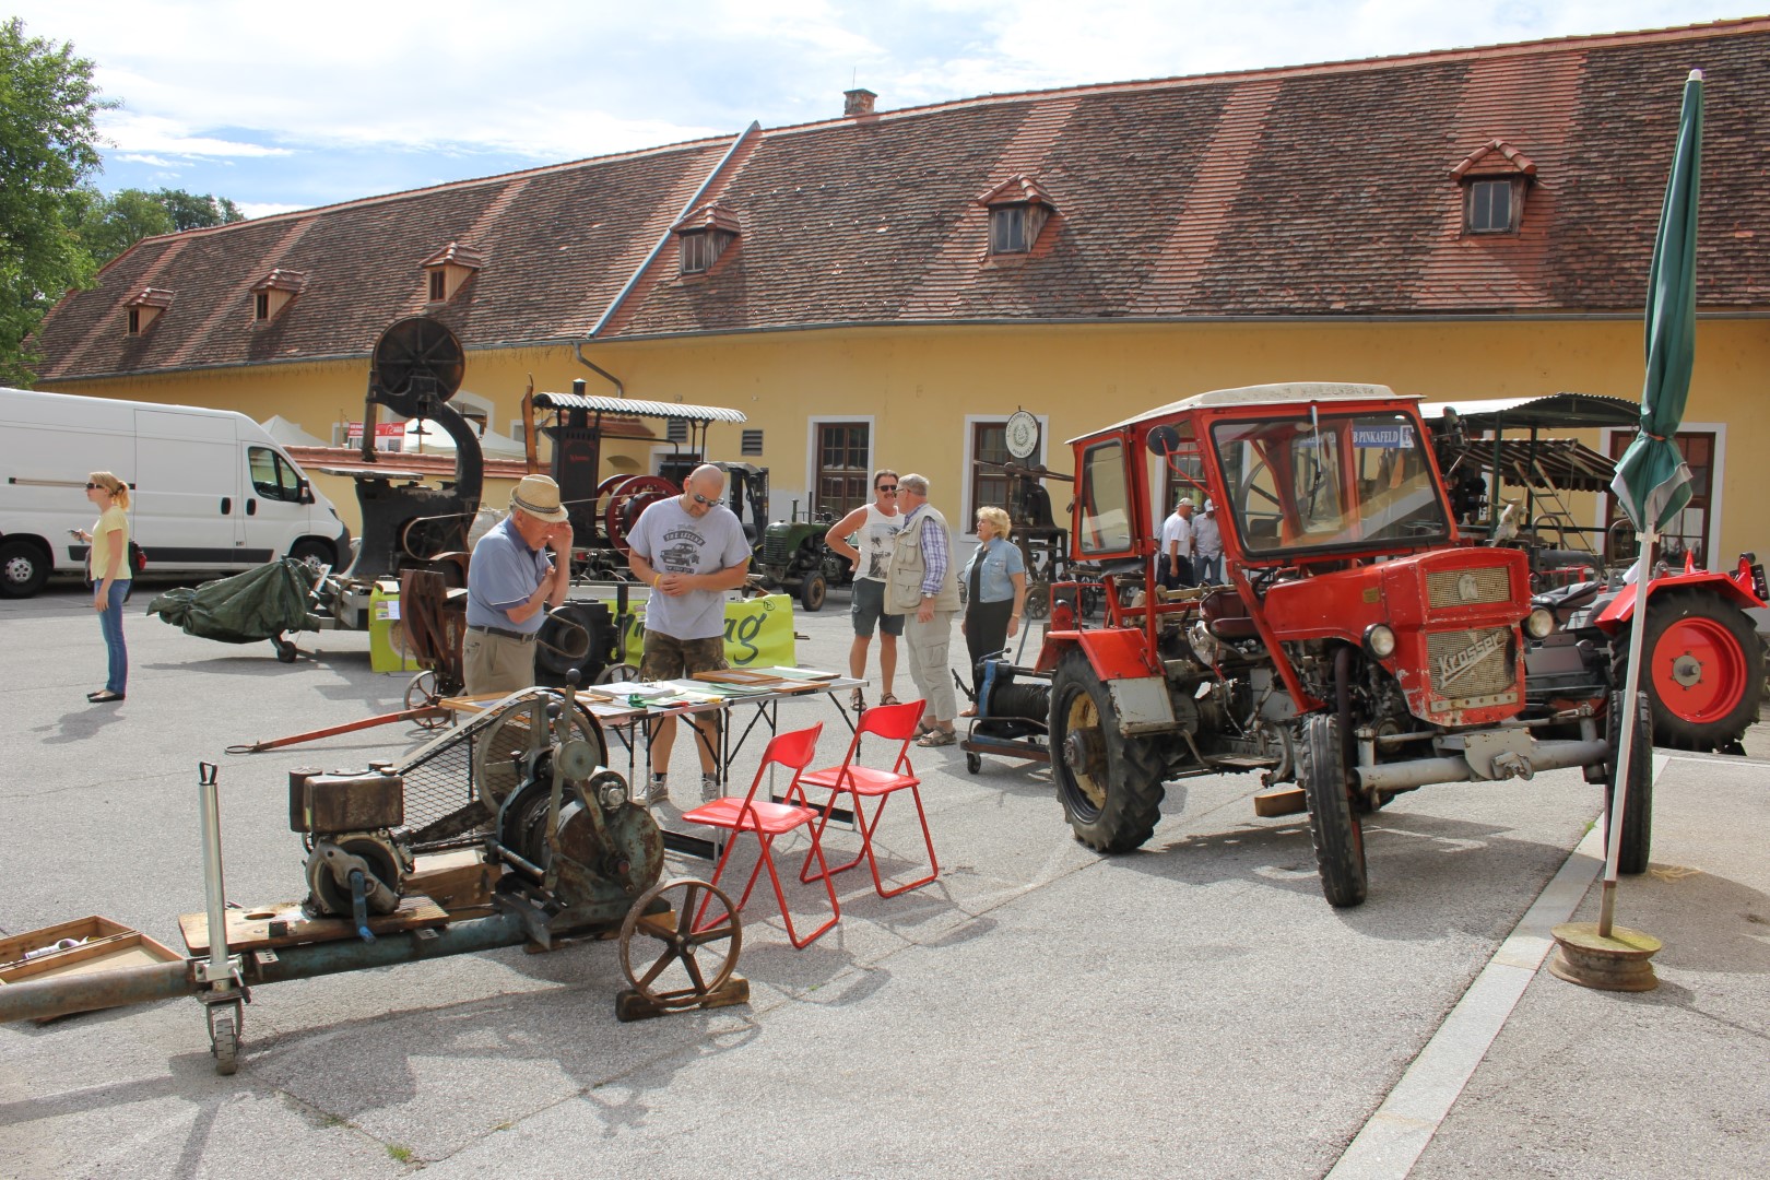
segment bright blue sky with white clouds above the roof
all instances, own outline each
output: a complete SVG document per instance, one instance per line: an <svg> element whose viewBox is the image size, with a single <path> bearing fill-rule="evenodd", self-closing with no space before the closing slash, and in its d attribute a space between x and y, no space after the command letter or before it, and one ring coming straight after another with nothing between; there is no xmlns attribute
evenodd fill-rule
<svg viewBox="0 0 1770 1180"><path fill-rule="evenodd" d="M1752 14L1747 0L11 0L104 96L106 191L250 216L841 115ZM1763 7L1761 0L1756 7Z"/></svg>

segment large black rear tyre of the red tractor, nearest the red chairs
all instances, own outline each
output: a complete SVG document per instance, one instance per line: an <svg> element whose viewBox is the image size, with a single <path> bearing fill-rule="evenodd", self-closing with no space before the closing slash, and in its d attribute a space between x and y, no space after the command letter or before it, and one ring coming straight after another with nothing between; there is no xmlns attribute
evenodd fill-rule
<svg viewBox="0 0 1770 1180"><path fill-rule="evenodd" d="M1129 853L1161 819L1161 754L1110 722L1112 697L1087 655L1069 651L1051 678L1051 777L1076 839Z"/></svg>

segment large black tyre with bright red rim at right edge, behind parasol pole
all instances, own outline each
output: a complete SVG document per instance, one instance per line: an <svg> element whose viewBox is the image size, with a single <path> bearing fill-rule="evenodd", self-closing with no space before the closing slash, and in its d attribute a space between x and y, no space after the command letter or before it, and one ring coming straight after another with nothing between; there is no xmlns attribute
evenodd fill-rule
<svg viewBox="0 0 1770 1180"><path fill-rule="evenodd" d="M1625 683L1628 630L1616 635L1616 683ZM1708 589L1648 598L1641 690L1653 736L1674 750L1720 750L1758 720L1763 644L1743 610Z"/></svg>

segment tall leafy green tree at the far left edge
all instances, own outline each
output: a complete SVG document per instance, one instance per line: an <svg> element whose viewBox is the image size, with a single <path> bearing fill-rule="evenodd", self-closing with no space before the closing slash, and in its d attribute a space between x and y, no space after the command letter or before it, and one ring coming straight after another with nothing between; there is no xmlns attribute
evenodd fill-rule
<svg viewBox="0 0 1770 1180"><path fill-rule="evenodd" d="M101 101L92 62L73 44L0 25L0 382L30 384L27 336L42 313L92 274L71 232L67 195L99 168Z"/></svg>

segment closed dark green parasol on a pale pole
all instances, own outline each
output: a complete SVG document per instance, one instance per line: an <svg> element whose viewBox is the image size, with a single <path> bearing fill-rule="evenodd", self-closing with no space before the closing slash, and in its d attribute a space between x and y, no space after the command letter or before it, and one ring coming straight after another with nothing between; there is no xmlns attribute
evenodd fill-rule
<svg viewBox="0 0 1770 1180"><path fill-rule="evenodd" d="M1673 435L1683 421L1683 403L1690 398L1690 368L1696 363L1696 203L1703 172L1703 71L1692 69L1683 83L1683 113L1678 119L1678 147L1671 157L1666 203L1660 207L1658 237L1653 241L1653 267L1648 271L1648 372L1641 384L1641 430L1616 464L1611 490L1641 536L1635 563L1635 609L1628 640L1628 676L1620 725L1621 748L1616 752L1616 789L1611 793L1611 847L1604 865L1604 897L1598 908L1598 936L1611 936L1616 908L1616 869L1623 844L1623 808L1628 764L1650 757L1634 750L1634 708L1641 692L1641 651L1646 632L1646 587L1658 531L1690 502L1690 467L1678 453Z"/></svg>

